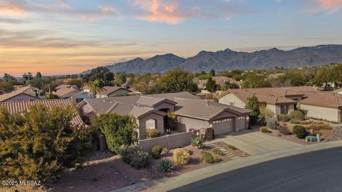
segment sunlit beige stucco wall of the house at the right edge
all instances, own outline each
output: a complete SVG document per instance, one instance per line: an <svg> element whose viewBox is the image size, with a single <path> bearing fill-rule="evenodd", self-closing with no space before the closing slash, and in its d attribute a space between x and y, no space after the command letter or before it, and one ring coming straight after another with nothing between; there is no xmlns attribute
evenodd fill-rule
<svg viewBox="0 0 342 192"><path fill-rule="evenodd" d="M306 112L306 116L316 118L316 119L325 119L331 122L341 122L341 110L330 107L318 107L314 105L300 105L300 109Z"/></svg>

